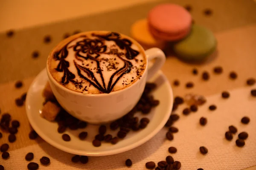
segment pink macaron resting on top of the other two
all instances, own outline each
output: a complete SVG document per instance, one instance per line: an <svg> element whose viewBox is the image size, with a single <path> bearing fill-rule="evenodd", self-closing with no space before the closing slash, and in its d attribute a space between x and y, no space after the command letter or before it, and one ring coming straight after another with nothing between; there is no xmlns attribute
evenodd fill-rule
<svg viewBox="0 0 256 170"><path fill-rule="evenodd" d="M189 34L192 17L182 6L166 3L155 6L149 11L148 25L154 37L176 41Z"/></svg>

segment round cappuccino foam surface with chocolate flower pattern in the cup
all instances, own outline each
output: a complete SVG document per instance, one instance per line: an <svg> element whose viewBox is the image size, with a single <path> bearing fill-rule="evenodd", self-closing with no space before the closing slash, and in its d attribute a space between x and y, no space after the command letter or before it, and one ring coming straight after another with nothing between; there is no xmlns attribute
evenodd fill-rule
<svg viewBox="0 0 256 170"><path fill-rule="evenodd" d="M47 66L64 87L83 94L102 94L132 85L145 71L143 48L131 38L113 32L73 35L50 53Z"/></svg>

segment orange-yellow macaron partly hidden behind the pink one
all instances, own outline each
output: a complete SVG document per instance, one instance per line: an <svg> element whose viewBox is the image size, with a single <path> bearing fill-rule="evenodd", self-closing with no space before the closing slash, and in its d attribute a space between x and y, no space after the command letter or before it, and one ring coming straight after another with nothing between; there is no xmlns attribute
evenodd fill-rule
<svg viewBox="0 0 256 170"><path fill-rule="evenodd" d="M131 26L131 37L139 42L145 50L152 47L160 49L165 47L165 41L157 40L152 36L146 19L138 20Z"/></svg>

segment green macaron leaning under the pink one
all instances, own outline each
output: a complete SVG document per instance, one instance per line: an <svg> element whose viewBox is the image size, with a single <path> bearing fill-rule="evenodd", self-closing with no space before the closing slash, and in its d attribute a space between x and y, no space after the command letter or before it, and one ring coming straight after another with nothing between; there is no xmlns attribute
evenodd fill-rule
<svg viewBox="0 0 256 170"><path fill-rule="evenodd" d="M173 51L178 57L189 62L200 62L215 51L217 41L209 29L194 24L190 34L175 43Z"/></svg>

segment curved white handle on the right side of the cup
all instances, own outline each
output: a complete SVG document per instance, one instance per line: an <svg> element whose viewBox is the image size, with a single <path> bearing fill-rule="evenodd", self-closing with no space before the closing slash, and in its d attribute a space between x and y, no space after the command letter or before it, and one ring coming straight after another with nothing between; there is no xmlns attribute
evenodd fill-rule
<svg viewBox="0 0 256 170"><path fill-rule="evenodd" d="M145 51L148 58L148 64L152 59L156 59L154 64L148 68L147 80L154 76L158 70L163 66L166 56L159 48L150 48Z"/></svg>

